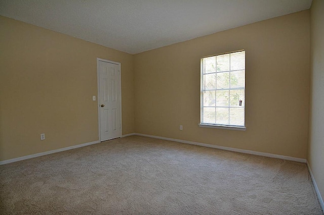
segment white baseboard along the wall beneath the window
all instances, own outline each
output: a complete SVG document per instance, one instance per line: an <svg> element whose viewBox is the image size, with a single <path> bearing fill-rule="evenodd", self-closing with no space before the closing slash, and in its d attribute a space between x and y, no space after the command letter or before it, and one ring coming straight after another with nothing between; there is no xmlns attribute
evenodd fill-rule
<svg viewBox="0 0 324 215"><path fill-rule="evenodd" d="M159 136L148 135L148 134L135 133L135 135L143 136L143 137L152 137L152 138L156 138L156 139L176 141L176 142L187 143L187 144L191 144L191 145L206 146L206 147L210 147L210 148L218 148L218 149L223 149L223 150L227 150L227 151L235 151L235 152L241 152L241 153L246 153L246 154L254 154L254 155L260 155L260 156L265 156L265 157L273 157L273 158L279 158L279 159L285 159L285 160L293 160L295 162L306 163L306 159L298 158L298 157L290 157L290 156L285 156L285 155L270 154L270 153L259 152L259 151L251 151L251 150L245 150L245 149L231 148L231 147L225 147L225 146L219 146L219 145L192 142L192 141L187 141L187 140L173 139L173 138L168 138L168 137L159 137Z"/></svg>

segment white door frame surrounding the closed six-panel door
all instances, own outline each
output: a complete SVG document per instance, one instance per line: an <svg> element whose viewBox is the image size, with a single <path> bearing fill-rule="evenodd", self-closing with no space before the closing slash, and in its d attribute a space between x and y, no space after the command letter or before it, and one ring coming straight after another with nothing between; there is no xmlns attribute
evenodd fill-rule
<svg viewBox="0 0 324 215"><path fill-rule="evenodd" d="M114 61L109 61L109 60L105 60L105 59L101 59L101 58L97 58L97 90L98 90L98 94L97 94L97 105L98 105L98 137L99 137L99 142L101 142L101 124L100 124L100 71L99 71L99 62L106 62L106 63L110 63L110 64L115 64L119 66L119 106L120 106L120 137L123 135L123 120L121 119L121 66L119 62L114 62Z"/></svg>

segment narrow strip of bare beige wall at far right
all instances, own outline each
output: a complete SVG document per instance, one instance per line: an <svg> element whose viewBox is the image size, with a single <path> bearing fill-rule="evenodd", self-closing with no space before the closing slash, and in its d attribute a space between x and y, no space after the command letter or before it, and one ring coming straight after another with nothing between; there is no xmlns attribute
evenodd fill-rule
<svg viewBox="0 0 324 215"><path fill-rule="evenodd" d="M313 0L311 23L311 108L307 160L324 197L324 1Z"/></svg>

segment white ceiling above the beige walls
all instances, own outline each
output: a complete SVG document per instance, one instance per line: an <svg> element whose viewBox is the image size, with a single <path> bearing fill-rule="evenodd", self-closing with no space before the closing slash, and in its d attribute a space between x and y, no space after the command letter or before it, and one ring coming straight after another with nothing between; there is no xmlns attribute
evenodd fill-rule
<svg viewBox="0 0 324 215"><path fill-rule="evenodd" d="M309 9L312 0L0 0L0 15L128 53Z"/></svg>

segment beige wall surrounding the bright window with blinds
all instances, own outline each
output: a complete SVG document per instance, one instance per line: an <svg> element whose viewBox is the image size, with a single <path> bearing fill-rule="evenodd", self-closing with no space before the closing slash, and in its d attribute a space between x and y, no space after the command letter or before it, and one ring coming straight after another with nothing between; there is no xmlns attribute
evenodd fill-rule
<svg viewBox="0 0 324 215"><path fill-rule="evenodd" d="M306 158L309 28L307 10L135 55L135 131ZM247 130L198 127L200 59L240 49Z"/></svg>

